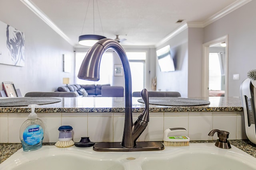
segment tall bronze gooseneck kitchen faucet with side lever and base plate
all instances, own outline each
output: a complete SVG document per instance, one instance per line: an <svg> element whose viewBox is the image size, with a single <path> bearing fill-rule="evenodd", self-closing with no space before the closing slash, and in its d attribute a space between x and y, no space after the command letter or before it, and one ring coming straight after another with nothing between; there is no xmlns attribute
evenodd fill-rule
<svg viewBox="0 0 256 170"><path fill-rule="evenodd" d="M145 110L139 115L135 123L132 122L132 76L129 61L124 49L119 43L112 39L102 39L93 45L81 64L78 78L84 80L100 80L100 60L108 49L115 51L122 61L125 80L125 117L124 133L121 143L96 143L96 151L142 151L142 150L162 150L164 146L159 142L138 142L136 140L146 129L149 122L149 100L148 91L143 89L142 99L145 102Z"/></svg>

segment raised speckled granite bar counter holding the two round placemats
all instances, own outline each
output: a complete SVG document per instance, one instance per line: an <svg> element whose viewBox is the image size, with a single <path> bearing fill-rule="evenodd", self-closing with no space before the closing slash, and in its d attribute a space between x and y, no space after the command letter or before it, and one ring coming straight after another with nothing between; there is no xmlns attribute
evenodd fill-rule
<svg viewBox="0 0 256 170"><path fill-rule="evenodd" d="M84 113L84 112L124 112L124 98L84 97L60 98L62 101L54 104L40 105L37 113ZM144 104L140 98L132 98L132 112L142 112ZM193 98L210 101L202 106L160 106L150 104L150 112L211 112L211 111L243 111L239 97L207 97ZM1 100L1 99L0 99ZM0 113L30 113L28 107L0 107Z"/></svg>

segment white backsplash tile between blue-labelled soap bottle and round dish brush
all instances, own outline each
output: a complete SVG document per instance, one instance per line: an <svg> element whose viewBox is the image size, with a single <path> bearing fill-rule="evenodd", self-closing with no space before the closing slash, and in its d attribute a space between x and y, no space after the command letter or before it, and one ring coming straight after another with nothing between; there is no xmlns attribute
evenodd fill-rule
<svg viewBox="0 0 256 170"><path fill-rule="evenodd" d="M55 143L58 141L61 126L61 117L39 117L44 123L44 140L43 143Z"/></svg>

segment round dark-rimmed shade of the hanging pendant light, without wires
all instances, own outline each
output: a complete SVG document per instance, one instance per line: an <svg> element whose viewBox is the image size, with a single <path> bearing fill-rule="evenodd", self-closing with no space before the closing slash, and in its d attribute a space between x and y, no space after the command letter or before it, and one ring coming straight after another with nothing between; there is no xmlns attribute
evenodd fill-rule
<svg viewBox="0 0 256 170"><path fill-rule="evenodd" d="M104 38L106 37L102 35L80 35L78 44L91 47L95 43L97 43L99 40Z"/></svg>

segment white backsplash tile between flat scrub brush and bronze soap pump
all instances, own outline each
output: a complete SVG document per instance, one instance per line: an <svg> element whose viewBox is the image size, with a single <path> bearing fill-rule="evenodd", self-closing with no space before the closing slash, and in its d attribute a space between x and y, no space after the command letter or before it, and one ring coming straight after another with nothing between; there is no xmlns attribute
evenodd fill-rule
<svg viewBox="0 0 256 170"><path fill-rule="evenodd" d="M208 133L212 130L212 116L189 116L188 137L191 141L212 140Z"/></svg>

